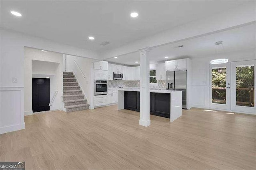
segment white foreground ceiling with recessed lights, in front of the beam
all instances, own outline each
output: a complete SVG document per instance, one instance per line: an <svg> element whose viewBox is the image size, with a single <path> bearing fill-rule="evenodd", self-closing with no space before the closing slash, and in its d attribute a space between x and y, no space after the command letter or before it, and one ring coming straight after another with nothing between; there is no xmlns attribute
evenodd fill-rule
<svg viewBox="0 0 256 170"><path fill-rule="evenodd" d="M0 27L100 52L248 1L0 0ZM12 16L11 10L22 17ZM138 18L130 18L134 11ZM111 44L100 45L105 41Z"/></svg>

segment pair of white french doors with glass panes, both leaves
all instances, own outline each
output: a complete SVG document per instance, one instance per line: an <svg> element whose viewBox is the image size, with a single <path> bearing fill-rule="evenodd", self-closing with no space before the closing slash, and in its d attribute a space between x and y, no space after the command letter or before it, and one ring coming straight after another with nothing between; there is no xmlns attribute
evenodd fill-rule
<svg viewBox="0 0 256 170"><path fill-rule="evenodd" d="M256 60L210 65L212 109L256 114Z"/></svg>

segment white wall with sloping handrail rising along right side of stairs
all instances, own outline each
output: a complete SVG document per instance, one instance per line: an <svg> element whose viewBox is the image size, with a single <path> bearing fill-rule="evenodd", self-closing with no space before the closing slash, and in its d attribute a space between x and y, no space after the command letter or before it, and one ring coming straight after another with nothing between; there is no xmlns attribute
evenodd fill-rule
<svg viewBox="0 0 256 170"><path fill-rule="evenodd" d="M78 68L74 60L82 70L82 73L84 73L85 77L81 73L80 69ZM93 69L93 62L95 61L97 60L66 55L66 71L71 71L74 73L81 89L83 90L83 93L87 99L88 104L93 103L94 84L91 82L93 79L91 71Z"/></svg>

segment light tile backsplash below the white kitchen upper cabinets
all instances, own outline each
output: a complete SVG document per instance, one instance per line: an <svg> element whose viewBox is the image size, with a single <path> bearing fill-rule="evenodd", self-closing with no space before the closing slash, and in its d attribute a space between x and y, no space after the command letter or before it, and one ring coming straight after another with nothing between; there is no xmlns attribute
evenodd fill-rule
<svg viewBox="0 0 256 170"><path fill-rule="evenodd" d="M129 87L140 87L140 81L127 81L127 80L108 80L108 88L129 88ZM150 88L165 89L165 80L158 80L157 86L150 86Z"/></svg>

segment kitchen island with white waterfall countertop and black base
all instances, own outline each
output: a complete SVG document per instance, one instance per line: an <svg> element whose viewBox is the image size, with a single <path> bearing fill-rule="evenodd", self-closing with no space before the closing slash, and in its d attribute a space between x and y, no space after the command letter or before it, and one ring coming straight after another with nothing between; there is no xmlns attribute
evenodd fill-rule
<svg viewBox="0 0 256 170"><path fill-rule="evenodd" d="M121 109L140 112L140 88L118 89ZM182 91L150 89L150 114L176 120L182 115Z"/></svg>

